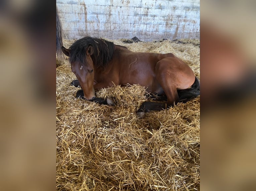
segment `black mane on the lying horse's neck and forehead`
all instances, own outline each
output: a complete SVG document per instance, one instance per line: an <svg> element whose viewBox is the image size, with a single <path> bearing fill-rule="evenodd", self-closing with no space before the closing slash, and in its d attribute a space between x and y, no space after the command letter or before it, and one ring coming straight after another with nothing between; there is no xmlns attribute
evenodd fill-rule
<svg viewBox="0 0 256 191"><path fill-rule="evenodd" d="M105 67L112 60L115 53L114 43L100 38L84 37L74 42L70 49L70 62L80 62L86 66L86 48L92 45L93 54L91 55L94 67Z"/></svg>

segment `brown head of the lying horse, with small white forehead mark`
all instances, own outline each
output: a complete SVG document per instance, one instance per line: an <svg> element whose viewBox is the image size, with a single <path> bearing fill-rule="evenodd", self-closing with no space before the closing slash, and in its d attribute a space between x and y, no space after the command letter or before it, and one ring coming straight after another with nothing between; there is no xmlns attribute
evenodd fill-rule
<svg viewBox="0 0 256 191"><path fill-rule="evenodd" d="M70 57L71 70L76 75L83 91L84 98L92 100L95 98L94 85L94 65L91 58L93 47L89 44L87 47L72 50L61 47L62 52ZM80 54L78 53L80 52Z"/></svg>

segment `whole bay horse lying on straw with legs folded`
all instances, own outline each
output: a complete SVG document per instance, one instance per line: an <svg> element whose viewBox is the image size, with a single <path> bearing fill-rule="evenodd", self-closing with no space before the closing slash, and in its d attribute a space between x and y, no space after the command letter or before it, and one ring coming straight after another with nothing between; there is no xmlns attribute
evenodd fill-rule
<svg viewBox="0 0 256 191"><path fill-rule="evenodd" d="M147 111L166 109L200 95L200 83L194 72L172 53L132 52L100 38L84 37L69 49L61 47L69 57L71 70L78 80L72 82L82 90L77 97L113 104L111 98L95 97L95 90L113 85L139 84L148 93L160 95L165 102L145 101L137 110L139 118Z"/></svg>

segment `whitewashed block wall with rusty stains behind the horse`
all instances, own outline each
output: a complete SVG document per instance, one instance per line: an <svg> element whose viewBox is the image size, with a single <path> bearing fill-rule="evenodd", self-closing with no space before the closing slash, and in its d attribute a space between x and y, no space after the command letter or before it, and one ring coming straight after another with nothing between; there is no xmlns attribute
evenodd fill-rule
<svg viewBox="0 0 256 191"><path fill-rule="evenodd" d="M56 6L67 39L200 37L200 0L56 0Z"/></svg>

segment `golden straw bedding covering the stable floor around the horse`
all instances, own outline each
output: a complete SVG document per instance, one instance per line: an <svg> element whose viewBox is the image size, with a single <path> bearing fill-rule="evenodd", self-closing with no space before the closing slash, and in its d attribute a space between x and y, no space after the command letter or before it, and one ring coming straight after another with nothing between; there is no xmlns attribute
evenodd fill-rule
<svg viewBox="0 0 256 191"><path fill-rule="evenodd" d="M112 42L174 53L200 79L199 40L123 41ZM115 97L116 105L99 105L75 98L74 79L66 59L56 68L56 190L200 190L200 96L139 119L144 87L103 89L96 96Z"/></svg>

